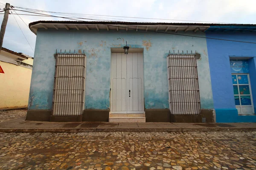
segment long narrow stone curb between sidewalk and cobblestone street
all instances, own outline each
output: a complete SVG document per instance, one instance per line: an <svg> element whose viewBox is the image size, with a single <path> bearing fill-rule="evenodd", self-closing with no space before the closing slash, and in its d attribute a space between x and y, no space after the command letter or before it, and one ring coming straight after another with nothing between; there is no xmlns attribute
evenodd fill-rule
<svg viewBox="0 0 256 170"><path fill-rule="evenodd" d="M58 129L15 129L0 128L5 133L78 133L78 132L212 132L212 131L254 131L256 127L109 127L109 128L58 128Z"/></svg>

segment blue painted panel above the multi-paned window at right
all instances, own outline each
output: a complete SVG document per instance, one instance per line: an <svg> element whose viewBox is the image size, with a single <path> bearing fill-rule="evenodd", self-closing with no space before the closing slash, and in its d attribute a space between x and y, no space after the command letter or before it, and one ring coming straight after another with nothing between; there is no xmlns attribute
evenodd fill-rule
<svg viewBox="0 0 256 170"><path fill-rule="evenodd" d="M249 73L249 64L246 59L230 60L231 73Z"/></svg>

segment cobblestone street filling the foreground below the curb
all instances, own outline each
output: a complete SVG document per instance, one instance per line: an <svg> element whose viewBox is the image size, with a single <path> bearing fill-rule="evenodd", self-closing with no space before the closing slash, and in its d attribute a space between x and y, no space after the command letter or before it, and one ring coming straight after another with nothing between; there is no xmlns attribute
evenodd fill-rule
<svg viewBox="0 0 256 170"><path fill-rule="evenodd" d="M256 132L0 133L0 169L256 170Z"/></svg>

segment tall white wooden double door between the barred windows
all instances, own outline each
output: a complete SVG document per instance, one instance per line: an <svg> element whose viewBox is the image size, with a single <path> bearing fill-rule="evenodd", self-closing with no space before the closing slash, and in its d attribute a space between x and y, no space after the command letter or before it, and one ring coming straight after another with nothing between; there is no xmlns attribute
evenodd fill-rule
<svg viewBox="0 0 256 170"><path fill-rule="evenodd" d="M111 113L144 113L143 54L111 53Z"/></svg>

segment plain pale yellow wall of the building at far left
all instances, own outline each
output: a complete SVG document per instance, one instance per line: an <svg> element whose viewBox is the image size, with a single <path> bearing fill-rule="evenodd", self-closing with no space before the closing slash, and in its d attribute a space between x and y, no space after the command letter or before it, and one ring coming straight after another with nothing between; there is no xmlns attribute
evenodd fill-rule
<svg viewBox="0 0 256 170"><path fill-rule="evenodd" d="M27 107L32 70L1 62L0 108Z"/></svg>

